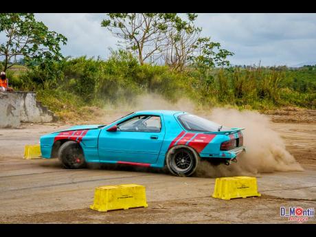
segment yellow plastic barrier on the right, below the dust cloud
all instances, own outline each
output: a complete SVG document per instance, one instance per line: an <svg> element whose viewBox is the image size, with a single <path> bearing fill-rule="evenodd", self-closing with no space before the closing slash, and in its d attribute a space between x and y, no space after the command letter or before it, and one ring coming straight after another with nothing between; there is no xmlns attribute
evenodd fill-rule
<svg viewBox="0 0 316 237"><path fill-rule="evenodd" d="M261 196L257 189L255 177L226 177L217 178L212 197L216 199L237 199L247 196Z"/></svg>

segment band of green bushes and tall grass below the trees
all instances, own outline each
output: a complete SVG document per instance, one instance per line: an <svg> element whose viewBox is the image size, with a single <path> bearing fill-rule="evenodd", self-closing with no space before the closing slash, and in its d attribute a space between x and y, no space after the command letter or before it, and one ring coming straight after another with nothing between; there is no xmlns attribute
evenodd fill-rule
<svg viewBox="0 0 316 237"><path fill-rule="evenodd" d="M260 111L282 106L315 109L316 67L227 67L183 71L140 65L122 50L107 60L65 58L29 69L7 71L16 91L36 91L38 100L62 119L87 116L90 106L133 103L135 95L158 93L170 102L189 98L196 105L236 106ZM153 108L155 109L155 108Z"/></svg>

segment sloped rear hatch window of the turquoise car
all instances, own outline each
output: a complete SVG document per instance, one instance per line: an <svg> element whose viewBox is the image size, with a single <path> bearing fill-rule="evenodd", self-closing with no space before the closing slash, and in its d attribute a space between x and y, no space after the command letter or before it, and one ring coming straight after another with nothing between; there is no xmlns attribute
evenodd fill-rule
<svg viewBox="0 0 316 237"><path fill-rule="evenodd" d="M192 115L190 113L179 115L178 119L182 126L184 126L188 131L216 132L218 130L227 130L227 128L221 126L221 124L216 124L216 122L206 120L203 117Z"/></svg>

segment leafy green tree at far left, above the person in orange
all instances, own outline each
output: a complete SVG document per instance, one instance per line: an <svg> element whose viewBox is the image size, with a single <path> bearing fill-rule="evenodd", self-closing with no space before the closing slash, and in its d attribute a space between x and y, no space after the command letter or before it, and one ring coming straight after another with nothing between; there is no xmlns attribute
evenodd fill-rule
<svg viewBox="0 0 316 237"><path fill-rule="evenodd" d="M38 22L32 13L1 13L0 32L5 32L6 41L0 45L4 57L3 70L16 63L16 56L30 61L60 60L60 43L66 44L63 34L49 31L43 22ZM14 60L11 65L9 62Z"/></svg>

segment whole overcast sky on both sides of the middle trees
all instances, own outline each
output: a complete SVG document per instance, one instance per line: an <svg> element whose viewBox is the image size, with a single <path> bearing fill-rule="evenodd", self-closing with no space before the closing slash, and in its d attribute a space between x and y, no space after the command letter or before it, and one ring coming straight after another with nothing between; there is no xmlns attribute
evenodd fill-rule
<svg viewBox="0 0 316 237"><path fill-rule="evenodd" d="M201 36L234 52L233 65L293 66L316 62L316 14L198 14ZM35 14L49 30L68 38L64 56L109 56L117 38L101 27L105 14ZM1 38L0 38L1 39Z"/></svg>

